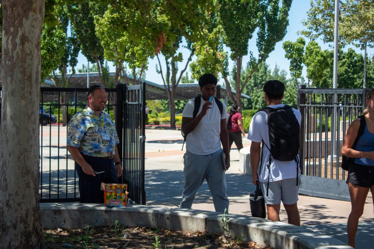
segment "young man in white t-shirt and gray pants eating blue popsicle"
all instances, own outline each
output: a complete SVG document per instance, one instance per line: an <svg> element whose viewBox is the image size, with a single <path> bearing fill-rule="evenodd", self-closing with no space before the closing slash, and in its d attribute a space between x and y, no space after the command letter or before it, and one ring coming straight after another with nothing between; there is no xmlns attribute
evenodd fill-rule
<svg viewBox="0 0 374 249"><path fill-rule="evenodd" d="M229 134L227 133L226 105L221 101L223 112L211 97L215 95L217 78L204 74L199 78L201 103L199 112L193 118L194 99L183 109L182 130L186 134L187 146L184 154L184 188L180 208L191 208L201 184L206 180L212 194L216 212L229 212L229 198L226 194L225 170L230 167ZM223 162L222 149L226 155Z"/></svg>

